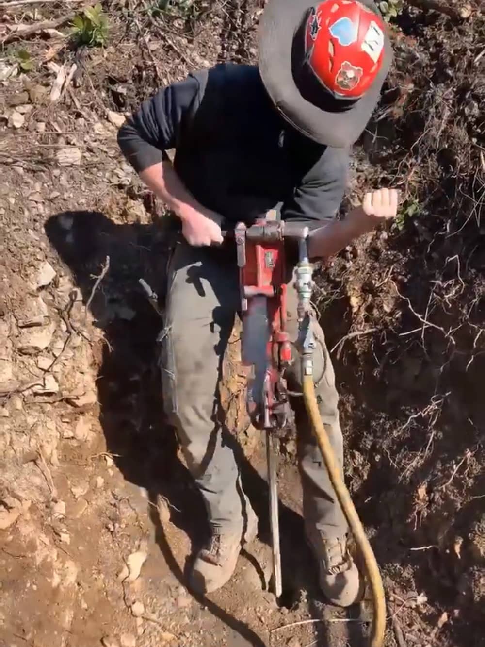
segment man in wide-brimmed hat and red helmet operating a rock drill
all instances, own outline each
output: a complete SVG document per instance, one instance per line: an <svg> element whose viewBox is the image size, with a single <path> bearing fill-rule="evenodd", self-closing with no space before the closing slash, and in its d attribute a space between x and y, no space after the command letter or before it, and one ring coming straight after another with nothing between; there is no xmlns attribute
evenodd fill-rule
<svg viewBox="0 0 485 647"><path fill-rule="evenodd" d="M314 1L314 0L313 0ZM183 238L169 267L166 325L160 335L164 406L177 428L204 498L210 542L192 584L210 592L232 575L257 518L217 418L222 356L239 291L235 254L222 219L250 222L281 205L285 220L307 221L312 258L328 258L396 215L397 193L382 189L341 221L349 148L374 109L392 52L372 0L269 0L259 65L218 65L160 90L120 129L127 160L177 215ZM175 148L173 165L166 149ZM296 294L288 286L288 328L297 337ZM319 408L339 461L338 395L323 333L314 322ZM296 362L297 364L297 362ZM298 376L290 374L297 382ZM295 403L308 541L330 601L361 595L336 502L307 414Z"/></svg>

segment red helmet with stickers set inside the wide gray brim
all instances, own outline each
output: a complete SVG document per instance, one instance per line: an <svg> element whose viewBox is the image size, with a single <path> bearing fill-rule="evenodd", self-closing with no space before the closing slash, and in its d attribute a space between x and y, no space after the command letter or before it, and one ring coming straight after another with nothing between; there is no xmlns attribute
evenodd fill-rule
<svg viewBox="0 0 485 647"><path fill-rule="evenodd" d="M382 65L385 27L355 0L325 0L310 9L307 65L336 98L357 99L371 87Z"/></svg>

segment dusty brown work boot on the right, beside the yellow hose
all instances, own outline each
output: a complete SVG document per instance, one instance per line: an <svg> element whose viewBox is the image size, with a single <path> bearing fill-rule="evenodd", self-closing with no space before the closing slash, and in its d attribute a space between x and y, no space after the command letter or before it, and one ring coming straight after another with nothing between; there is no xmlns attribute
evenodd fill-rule
<svg viewBox="0 0 485 647"><path fill-rule="evenodd" d="M320 588L332 604L347 607L360 602L363 582L349 553L347 536L327 538L307 525L307 539L319 564Z"/></svg>

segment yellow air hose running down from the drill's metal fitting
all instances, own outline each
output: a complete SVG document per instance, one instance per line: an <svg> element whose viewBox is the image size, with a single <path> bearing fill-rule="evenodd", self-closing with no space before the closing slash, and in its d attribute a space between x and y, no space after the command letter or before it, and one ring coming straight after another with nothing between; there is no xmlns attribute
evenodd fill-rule
<svg viewBox="0 0 485 647"><path fill-rule="evenodd" d="M343 482L340 466L336 460L334 450L330 444L325 426L321 420L315 395L315 386L312 375L303 375L303 397L307 406L308 416L318 440L318 446L329 472L330 481L334 487L338 501L349 523L350 530L363 556L367 578L371 584L372 601L374 604L374 621L372 622L371 647L382 647L385 631L385 599L379 567L372 552L371 544L355 509L349 490Z"/></svg>

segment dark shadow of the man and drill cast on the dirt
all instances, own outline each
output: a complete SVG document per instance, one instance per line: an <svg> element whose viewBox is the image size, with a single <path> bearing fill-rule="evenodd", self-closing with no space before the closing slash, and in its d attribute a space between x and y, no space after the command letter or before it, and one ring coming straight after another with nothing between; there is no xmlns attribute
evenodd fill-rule
<svg viewBox="0 0 485 647"><path fill-rule="evenodd" d="M173 575L188 587L189 562L185 569L180 568L171 551L156 507L158 497L168 501L172 523L188 534L192 547L201 545L208 533L208 524L200 494L177 457L175 433L164 418L156 349L162 320L138 283L139 278L146 280L158 293L159 302L164 302L173 232L162 226L161 221L150 225L116 225L101 213L81 211L53 215L45 231L72 272L83 302L89 302L95 325L102 329L105 338L96 384L107 450L113 454L125 479L146 489L156 542ZM96 276L100 275L107 257L109 270L93 292ZM259 538L269 543L266 481L244 458L239 444L232 437L228 437L228 442L232 443L241 466L244 490L259 517ZM304 589L308 598L318 600L316 606L310 604L310 613L319 617L322 598L315 564L303 539L303 521L280 504L280 525L285 606L297 602ZM245 554L261 576L256 560ZM247 624L203 595L190 592L250 644L264 647L264 642ZM318 644L328 645L324 623L318 623L315 630ZM360 644L358 638L352 636L353 644Z"/></svg>

